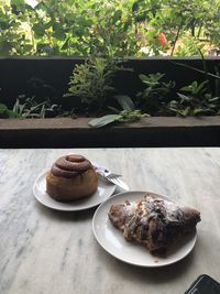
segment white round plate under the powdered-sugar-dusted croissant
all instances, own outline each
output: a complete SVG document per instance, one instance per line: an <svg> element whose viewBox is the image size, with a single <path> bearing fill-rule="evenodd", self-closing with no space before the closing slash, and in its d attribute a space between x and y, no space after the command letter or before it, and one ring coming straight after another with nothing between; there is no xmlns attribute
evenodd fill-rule
<svg viewBox="0 0 220 294"><path fill-rule="evenodd" d="M142 198L146 193L147 192L121 193L102 203L94 215L94 235L99 244L107 252L123 262L147 268L157 268L175 263L185 258L193 250L196 243L196 230L182 238L182 240L178 240L178 243L173 244L167 250L165 257L154 257L145 247L128 242L122 232L113 227L108 217L112 204L122 204L125 200L135 202Z"/></svg>

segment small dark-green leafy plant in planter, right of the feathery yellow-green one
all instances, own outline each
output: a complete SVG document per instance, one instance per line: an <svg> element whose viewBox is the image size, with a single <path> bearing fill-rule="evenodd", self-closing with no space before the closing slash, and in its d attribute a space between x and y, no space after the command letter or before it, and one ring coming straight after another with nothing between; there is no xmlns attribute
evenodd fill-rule
<svg viewBox="0 0 220 294"><path fill-rule="evenodd" d="M165 106L169 98L170 90L175 87L175 81L162 81L164 74L140 75L145 88L136 94L138 108L143 109L152 116L164 112Z"/></svg>

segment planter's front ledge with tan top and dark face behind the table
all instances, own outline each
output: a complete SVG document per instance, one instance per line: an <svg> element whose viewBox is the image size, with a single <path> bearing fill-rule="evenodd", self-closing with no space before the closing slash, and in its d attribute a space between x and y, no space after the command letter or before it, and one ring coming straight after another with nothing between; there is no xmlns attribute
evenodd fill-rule
<svg viewBox="0 0 220 294"><path fill-rule="evenodd" d="M145 118L91 129L88 118L0 119L0 148L220 146L220 117Z"/></svg>

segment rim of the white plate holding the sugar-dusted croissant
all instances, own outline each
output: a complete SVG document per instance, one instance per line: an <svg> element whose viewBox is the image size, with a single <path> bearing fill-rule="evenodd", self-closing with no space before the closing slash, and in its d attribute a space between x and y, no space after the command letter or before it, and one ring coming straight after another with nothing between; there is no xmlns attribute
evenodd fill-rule
<svg viewBox="0 0 220 294"><path fill-rule="evenodd" d="M101 204L99 205L99 207L96 209L96 211L95 211L95 214L94 214L94 217L92 217L92 224L91 224L94 236L95 236L97 242L99 243L99 246L100 246L106 252L108 252L110 255L112 255L113 258L116 258L117 260L120 260L120 261L122 261L122 262L124 262L124 263L127 263L127 264L134 265L134 266L140 266L140 268L163 268L163 266L172 265L172 264L174 264L174 263L176 263L176 262L178 262L178 261L185 259L185 258L193 251L193 249L195 248L195 244L196 244L196 241L197 241L197 229L196 229L196 228L195 228L195 231L193 232L193 237L191 237L191 239L190 239L190 240L193 241L191 247L190 247L188 250L186 250L185 254L183 254L180 258L178 258L178 259L176 259L176 260L172 260L170 262L163 263L163 264L160 264L160 263L156 263L156 262L155 262L155 264L153 264L153 263L152 263L152 264L143 264L143 263L138 263L138 262L134 263L134 262L124 260L123 258L120 258L120 257L113 254L109 249L105 248L105 246L102 244L102 242L99 240L99 238L98 238L98 236L97 236L97 232L96 232L96 228L95 228L95 226L96 226L95 220L96 220L96 218L97 218L97 215L100 213L100 210L102 209L102 207L103 207L108 202L113 202L113 200L116 200L116 198L118 198L118 197L120 197L120 196L123 196L123 195L125 196L125 195L128 195L128 194L131 195L132 193L136 193L136 194L139 193L139 194L142 194L142 195L145 195L145 194L148 193L148 194L157 195L157 196L161 196L161 197L163 197L163 198L165 198L165 199L168 199L168 197L163 196L163 195L161 195L161 194L157 194L157 193L154 193L154 192L143 192L143 190L129 190L129 192L122 192L122 193L118 193L118 194L111 196L110 198L106 199L106 200L105 200L103 203L101 203ZM169 198L169 199L170 199L170 198ZM112 226L112 228L114 228L114 227ZM114 228L114 229L117 229L117 228ZM133 248L135 248L135 247L133 247ZM150 253L150 252L148 252L148 253ZM150 254L151 254L151 253L150 253ZM152 258L155 258L155 259L156 259L156 257L154 257L154 255L152 255Z"/></svg>

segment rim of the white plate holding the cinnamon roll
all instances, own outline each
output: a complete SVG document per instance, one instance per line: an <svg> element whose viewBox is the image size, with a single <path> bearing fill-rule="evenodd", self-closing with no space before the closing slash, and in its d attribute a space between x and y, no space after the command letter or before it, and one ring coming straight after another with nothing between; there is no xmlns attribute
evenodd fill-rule
<svg viewBox="0 0 220 294"><path fill-rule="evenodd" d="M41 197L37 196L37 193L36 193L35 190L36 190L36 188L37 188L37 182L38 182L40 178L43 177L48 171L50 171L50 168L44 168L44 170L43 170L43 171L35 177L35 181L34 181L34 184L33 184L33 187L32 187L32 192L33 192L33 194L34 194L35 199L36 199L38 203L41 203L43 206L45 206L45 207L47 207L47 208L51 208L51 209L54 209L54 210L58 210L58 211L72 213L72 211L87 210L87 209L94 208L94 207L96 207L96 206L99 206L99 205L102 203L102 202L98 202L98 203L92 204L92 205L89 205L89 206L87 206L87 207L84 206L84 207L78 207L78 208L74 208L74 207L62 208L62 207L54 207L54 206L48 206L48 205L46 205L46 204L41 199ZM102 181L101 177L99 177L99 181ZM103 183L105 183L105 181L103 181ZM112 196L113 193L116 192L117 185L114 185L113 183L111 183L111 185L112 185L113 190L112 190L112 193L111 193L105 200L107 200L107 199L108 199L110 196ZM41 192L40 192L40 193L41 193ZM47 194L47 193L45 192L45 194ZM48 194L47 194L47 196L48 196ZM43 197L44 197L44 195L43 195ZM48 197L50 197L50 196L48 196ZM52 200L56 202L56 200L53 199L53 198L52 198ZM105 200L103 200L103 202L105 202ZM59 204L59 202L56 202L56 203ZM72 203L72 202L70 202L70 203Z"/></svg>

